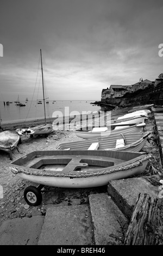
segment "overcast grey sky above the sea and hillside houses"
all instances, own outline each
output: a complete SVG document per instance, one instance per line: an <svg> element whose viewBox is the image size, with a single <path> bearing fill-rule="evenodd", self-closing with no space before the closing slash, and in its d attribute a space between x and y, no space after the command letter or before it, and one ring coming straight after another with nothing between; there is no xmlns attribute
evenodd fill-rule
<svg viewBox="0 0 163 256"><path fill-rule="evenodd" d="M49 100L100 100L110 84L163 72L162 0L1 0L0 7L0 100L32 100L40 49Z"/></svg>

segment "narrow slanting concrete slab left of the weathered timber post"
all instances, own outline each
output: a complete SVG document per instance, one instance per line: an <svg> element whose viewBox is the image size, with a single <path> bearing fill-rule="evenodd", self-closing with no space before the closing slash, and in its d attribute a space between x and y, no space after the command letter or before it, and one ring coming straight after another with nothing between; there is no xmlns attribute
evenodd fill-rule
<svg viewBox="0 0 163 256"><path fill-rule="evenodd" d="M122 245L128 220L106 193L89 196L96 245Z"/></svg>

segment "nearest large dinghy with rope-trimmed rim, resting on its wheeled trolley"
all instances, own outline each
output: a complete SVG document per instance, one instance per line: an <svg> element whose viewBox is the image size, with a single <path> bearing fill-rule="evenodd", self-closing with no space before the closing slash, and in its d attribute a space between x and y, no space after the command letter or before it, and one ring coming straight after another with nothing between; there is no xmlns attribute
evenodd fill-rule
<svg viewBox="0 0 163 256"><path fill-rule="evenodd" d="M128 151L34 151L11 163L16 176L39 184L24 190L29 205L42 201L43 186L84 188L107 185L110 180L141 174L151 155Z"/></svg>

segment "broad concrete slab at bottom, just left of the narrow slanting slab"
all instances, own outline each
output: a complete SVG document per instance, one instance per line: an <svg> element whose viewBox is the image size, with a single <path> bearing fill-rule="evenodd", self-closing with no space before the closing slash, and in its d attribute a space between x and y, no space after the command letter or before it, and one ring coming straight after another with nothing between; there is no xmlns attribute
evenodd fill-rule
<svg viewBox="0 0 163 256"><path fill-rule="evenodd" d="M51 206L46 211L38 245L93 245L88 205Z"/></svg>

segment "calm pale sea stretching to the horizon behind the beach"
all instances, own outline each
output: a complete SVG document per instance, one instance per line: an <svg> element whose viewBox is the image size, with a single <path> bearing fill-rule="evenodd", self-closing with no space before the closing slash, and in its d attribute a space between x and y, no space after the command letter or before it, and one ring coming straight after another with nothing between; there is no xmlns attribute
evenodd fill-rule
<svg viewBox="0 0 163 256"><path fill-rule="evenodd" d="M96 100L95 100L96 101ZM100 106L91 104L95 101L51 101L45 103L46 107L46 118L52 118L55 111L62 112L62 115L73 115L74 111L79 114L83 112L94 112L101 111ZM0 101L0 119L1 124L16 123L18 121L28 121L44 118L44 106L42 103L38 104L37 101L21 101L26 106L17 106L14 101L10 101L9 105L4 101Z"/></svg>

